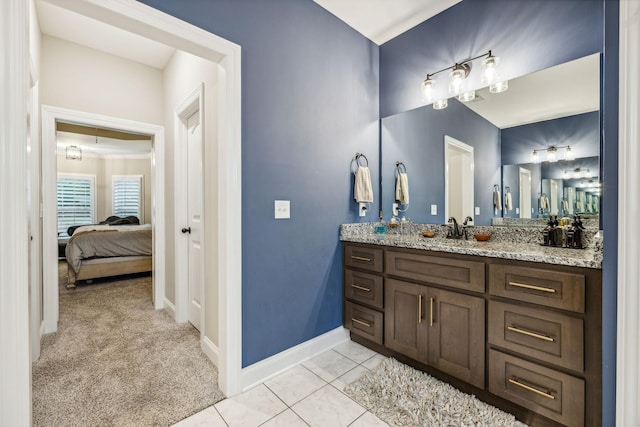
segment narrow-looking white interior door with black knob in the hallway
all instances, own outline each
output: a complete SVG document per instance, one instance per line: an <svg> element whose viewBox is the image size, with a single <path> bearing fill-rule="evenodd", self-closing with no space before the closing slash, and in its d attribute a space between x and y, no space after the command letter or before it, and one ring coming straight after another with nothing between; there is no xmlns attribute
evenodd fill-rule
<svg viewBox="0 0 640 427"><path fill-rule="evenodd" d="M202 126L200 111L187 119L188 320L200 330L202 316Z"/></svg>

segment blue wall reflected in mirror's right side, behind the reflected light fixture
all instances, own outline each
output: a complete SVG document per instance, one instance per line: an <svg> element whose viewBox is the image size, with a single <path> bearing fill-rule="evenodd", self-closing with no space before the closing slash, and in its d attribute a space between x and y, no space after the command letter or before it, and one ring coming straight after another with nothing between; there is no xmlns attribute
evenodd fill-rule
<svg viewBox="0 0 640 427"><path fill-rule="evenodd" d="M531 161L532 150L570 145L577 158L600 155L600 112L578 114L561 119L502 129L502 164ZM545 153L541 153L544 160ZM562 151L558 151L561 160Z"/></svg>

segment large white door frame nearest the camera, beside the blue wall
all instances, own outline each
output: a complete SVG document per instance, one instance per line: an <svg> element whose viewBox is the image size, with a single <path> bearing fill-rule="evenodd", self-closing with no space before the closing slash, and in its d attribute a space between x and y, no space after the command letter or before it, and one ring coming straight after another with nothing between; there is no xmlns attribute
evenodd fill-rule
<svg viewBox="0 0 640 427"><path fill-rule="evenodd" d="M218 64L217 228L218 385L242 391L242 109L240 46L133 0L43 0Z"/></svg>

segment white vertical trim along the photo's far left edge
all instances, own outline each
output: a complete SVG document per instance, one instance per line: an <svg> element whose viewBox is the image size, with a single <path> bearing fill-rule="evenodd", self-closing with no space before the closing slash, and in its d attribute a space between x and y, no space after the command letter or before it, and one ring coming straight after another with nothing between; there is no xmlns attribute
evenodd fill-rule
<svg viewBox="0 0 640 427"><path fill-rule="evenodd" d="M23 426L31 424L29 2L0 2L0 34L0 425Z"/></svg>

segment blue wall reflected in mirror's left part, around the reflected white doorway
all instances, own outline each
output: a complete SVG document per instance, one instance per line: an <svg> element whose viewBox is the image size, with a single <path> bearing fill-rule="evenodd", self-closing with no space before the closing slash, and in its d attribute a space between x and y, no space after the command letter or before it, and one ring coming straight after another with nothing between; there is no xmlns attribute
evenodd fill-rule
<svg viewBox="0 0 640 427"><path fill-rule="evenodd" d="M382 209L385 219L395 201L395 162L409 177L409 208L403 215L418 223L444 224L444 136L474 147L475 225L489 225L493 216L493 185L500 184L500 129L457 100L444 110L430 105L382 119ZM432 216L430 206L438 206ZM457 218L462 221L464 218Z"/></svg>

